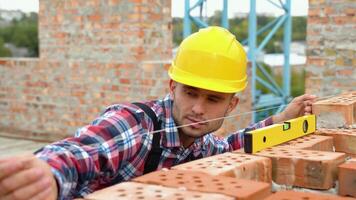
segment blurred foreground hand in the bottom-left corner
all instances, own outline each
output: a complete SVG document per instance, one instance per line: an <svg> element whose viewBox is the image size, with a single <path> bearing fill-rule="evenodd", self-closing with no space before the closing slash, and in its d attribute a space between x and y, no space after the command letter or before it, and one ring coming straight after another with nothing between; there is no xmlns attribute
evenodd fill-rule
<svg viewBox="0 0 356 200"><path fill-rule="evenodd" d="M55 200L57 190L50 166L35 156L0 159L1 200Z"/></svg>

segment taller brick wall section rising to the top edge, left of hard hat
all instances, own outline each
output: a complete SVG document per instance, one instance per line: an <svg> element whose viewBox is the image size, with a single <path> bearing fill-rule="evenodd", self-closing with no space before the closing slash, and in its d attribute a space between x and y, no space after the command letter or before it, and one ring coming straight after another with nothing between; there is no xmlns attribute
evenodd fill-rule
<svg viewBox="0 0 356 200"><path fill-rule="evenodd" d="M41 58L138 62L171 58L171 2L40 0Z"/></svg>

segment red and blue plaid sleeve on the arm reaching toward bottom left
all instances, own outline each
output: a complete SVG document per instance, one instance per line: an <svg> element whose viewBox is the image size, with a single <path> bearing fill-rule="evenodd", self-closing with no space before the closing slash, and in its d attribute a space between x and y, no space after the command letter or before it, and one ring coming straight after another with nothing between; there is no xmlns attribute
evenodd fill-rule
<svg viewBox="0 0 356 200"><path fill-rule="evenodd" d="M36 153L46 161L57 180L58 199L71 199L110 185L134 170L118 170L142 148L143 123L128 110L109 111L91 125L79 129L75 137L50 144Z"/></svg>

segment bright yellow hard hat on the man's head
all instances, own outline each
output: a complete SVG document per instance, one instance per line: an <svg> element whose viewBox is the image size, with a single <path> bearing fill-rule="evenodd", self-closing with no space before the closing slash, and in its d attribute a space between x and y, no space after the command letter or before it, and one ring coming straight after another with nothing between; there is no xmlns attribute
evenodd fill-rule
<svg viewBox="0 0 356 200"><path fill-rule="evenodd" d="M246 88L246 66L245 50L235 36L212 26L183 40L168 75L185 85L235 93Z"/></svg>

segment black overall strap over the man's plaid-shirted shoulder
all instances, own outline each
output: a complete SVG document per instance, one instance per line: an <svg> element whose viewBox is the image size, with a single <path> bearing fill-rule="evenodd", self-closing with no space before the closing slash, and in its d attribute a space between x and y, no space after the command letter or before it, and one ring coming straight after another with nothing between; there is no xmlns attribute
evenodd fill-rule
<svg viewBox="0 0 356 200"><path fill-rule="evenodd" d="M157 119L156 113L153 112L153 110L148 105L146 105L144 103L139 103L139 102L134 102L132 104L141 108L151 118L151 120L153 122L154 131L157 131L161 128L160 123ZM147 160L145 161L145 169L143 171L144 174L153 172L158 167L158 164L159 164L159 161L161 158L161 154L162 154L162 149L160 147L160 141L161 141L161 134L154 133L153 141L152 141L152 149L148 153Z"/></svg>

